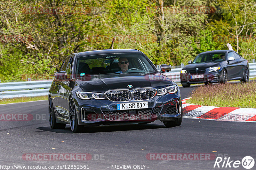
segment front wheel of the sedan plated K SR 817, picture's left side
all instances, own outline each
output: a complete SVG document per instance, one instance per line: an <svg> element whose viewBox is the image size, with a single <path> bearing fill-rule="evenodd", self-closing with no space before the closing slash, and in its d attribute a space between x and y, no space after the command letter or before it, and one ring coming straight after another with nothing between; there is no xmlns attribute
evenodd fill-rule
<svg viewBox="0 0 256 170"><path fill-rule="evenodd" d="M69 124L70 124L71 131L73 133L82 132L84 129L84 126L78 124L75 104L74 104L72 98L69 99L68 112L69 112Z"/></svg>

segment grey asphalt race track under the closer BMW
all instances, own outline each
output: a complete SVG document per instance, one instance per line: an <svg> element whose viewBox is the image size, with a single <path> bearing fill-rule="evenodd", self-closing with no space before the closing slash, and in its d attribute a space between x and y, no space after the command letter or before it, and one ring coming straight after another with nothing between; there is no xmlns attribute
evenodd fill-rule
<svg viewBox="0 0 256 170"><path fill-rule="evenodd" d="M189 97L193 88L181 87L182 99ZM181 126L174 128L165 128L162 122L156 121L151 124L92 127L88 132L73 134L69 125L64 130L52 130L49 127L48 101L0 105L0 110L1 114L28 115L28 121L1 119L2 166L61 165L66 166L66 169L68 166L69 169L75 169L71 165L88 165L86 167L91 170L120 169L122 165L131 165L131 169L136 165L136 169L148 170L245 169L241 165L238 168L213 168L216 157L212 160L198 160L196 157L196 160L186 160L184 157L182 159L185 160L150 160L146 156L148 153L209 153L230 157L234 161L242 161L245 156L256 158L256 126L250 122L183 118ZM14 115L13 119L17 117ZM31 157L27 157L28 154L38 153L88 153L92 157L91 160L39 160L38 157L29 160ZM122 167L124 169L126 166Z"/></svg>

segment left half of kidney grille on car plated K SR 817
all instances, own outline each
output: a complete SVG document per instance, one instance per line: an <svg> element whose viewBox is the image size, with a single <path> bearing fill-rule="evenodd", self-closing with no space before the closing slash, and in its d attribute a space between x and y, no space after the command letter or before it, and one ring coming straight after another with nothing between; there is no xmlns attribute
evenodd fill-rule
<svg viewBox="0 0 256 170"><path fill-rule="evenodd" d="M125 102L131 99L131 92L129 90L115 90L109 91L106 96L113 102Z"/></svg>

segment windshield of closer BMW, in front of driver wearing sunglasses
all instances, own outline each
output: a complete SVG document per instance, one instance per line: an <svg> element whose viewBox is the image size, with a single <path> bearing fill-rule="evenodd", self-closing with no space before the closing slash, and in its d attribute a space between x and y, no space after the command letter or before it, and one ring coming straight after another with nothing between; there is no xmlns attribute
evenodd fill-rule
<svg viewBox="0 0 256 170"><path fill-rule="evenodd" d="M145 58L138 53L103 54L79 57L76 64L76 74L121 74L119 59L126 58L129 62L127 73L155 73L155 69ZM125 73L126 73L125 72Z"/></svg>

